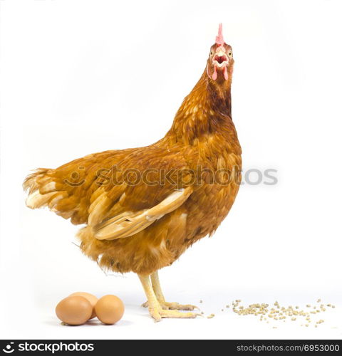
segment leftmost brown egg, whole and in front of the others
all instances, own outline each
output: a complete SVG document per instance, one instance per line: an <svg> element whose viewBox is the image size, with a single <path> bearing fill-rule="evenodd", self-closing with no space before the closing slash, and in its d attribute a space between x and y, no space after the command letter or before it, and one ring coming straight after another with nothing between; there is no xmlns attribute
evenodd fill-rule
<svg viewBox="0 0 342 356"><path fill-rule="evenodd" d="M80 295L71 295L61 300L56 306L56 315L63 323L82 325L90 318L93 307L88 299Z"/></svg>

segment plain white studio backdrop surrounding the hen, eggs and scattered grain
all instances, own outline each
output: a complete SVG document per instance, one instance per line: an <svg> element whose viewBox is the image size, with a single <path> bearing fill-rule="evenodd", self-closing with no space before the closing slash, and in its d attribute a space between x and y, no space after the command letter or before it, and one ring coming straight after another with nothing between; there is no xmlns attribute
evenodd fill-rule
<svg viewBox="0 0 342 356"><path fill-rule="evenodd" d="M1 338L341 338L341 1L0 1ZM212 319L153 323L137 276L105 276L72 244L77 226L24 206L30 169L149 145L204 70L217 25L234 51L233 119L244 185L212 239L161 271L170 301ZM118 325L63 327L77 290L113 293ZM325 323L261 323L234 299L336 309ZM278 325L278 328L273 326Z"/></svg>

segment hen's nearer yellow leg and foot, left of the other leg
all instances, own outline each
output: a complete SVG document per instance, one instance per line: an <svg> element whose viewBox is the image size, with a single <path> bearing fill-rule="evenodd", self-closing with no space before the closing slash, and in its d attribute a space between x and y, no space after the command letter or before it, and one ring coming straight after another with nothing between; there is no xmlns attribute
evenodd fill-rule
<svg viewBox="0 0 342 356"><path fill-rule="evenodd" d="M182 313L178 310L163 309L152 288L150 276L141 274L138 276L147 296L148 310L156 322L160 321L162 318L196 318L196 313Z"/></svg>

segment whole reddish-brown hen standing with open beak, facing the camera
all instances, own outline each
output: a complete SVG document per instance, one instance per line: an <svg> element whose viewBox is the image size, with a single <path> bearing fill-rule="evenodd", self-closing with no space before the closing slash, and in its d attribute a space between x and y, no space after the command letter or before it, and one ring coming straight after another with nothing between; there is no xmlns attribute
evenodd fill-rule
<svg viewBox="0 0 342 356"><path fill-rule="evenodd" d="M239 190L233 63L220 25L204 73L162 140L37 169L24 182L28 207L48 206L73 224L86 224L78 233L86 256L111 271L138 273L157 321L195 318L179 311L193 305L165 301L157 271L213 234Z"/></svg>

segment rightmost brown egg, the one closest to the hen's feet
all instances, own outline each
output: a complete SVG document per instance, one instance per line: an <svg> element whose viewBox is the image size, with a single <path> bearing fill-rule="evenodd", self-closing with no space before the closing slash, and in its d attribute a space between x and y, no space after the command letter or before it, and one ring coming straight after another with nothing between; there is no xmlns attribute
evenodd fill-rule
<svg viewBox="0 0 342 356"><path fill-rule="evenodd" d="M105 295L95 305L95 313L103 324L115 324L123 318L125 305L115 295Z"/></svg>

